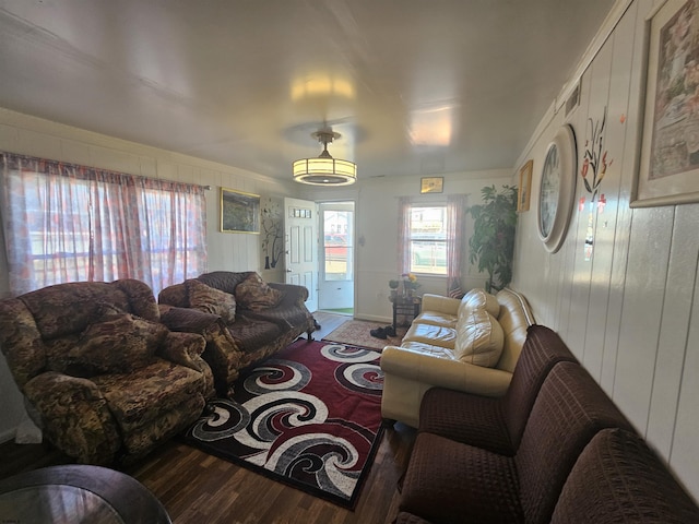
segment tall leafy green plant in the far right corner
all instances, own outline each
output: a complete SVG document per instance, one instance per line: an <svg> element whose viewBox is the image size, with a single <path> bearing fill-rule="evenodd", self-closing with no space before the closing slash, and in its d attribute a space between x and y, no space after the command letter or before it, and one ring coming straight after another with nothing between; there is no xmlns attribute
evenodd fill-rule
<svg viewBox="0 0 699 524"><path fill-rule="evenodd" d="M469 240L469 260L478 263L479 272L487 272L488 293L502 289L512 279L514 231L517 228L517 187L495 186L481 190L483 204L473 205L473 236Z"/></svg>

